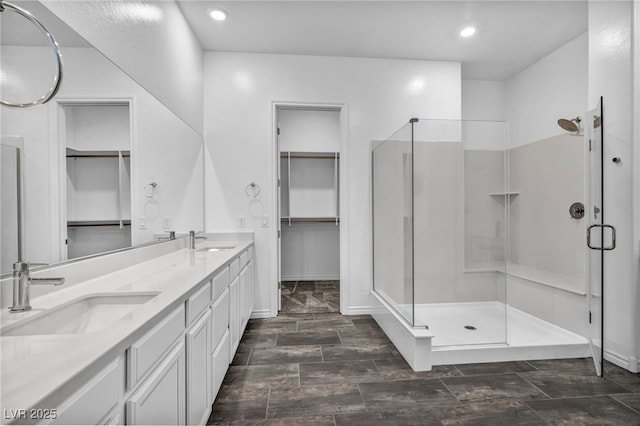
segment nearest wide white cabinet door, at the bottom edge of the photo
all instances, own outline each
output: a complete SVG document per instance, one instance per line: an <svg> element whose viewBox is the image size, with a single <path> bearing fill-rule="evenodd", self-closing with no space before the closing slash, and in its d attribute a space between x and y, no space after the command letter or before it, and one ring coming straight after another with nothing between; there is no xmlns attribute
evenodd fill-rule
<svg viewBox="0 0 640 426"><path fill-rule="evenodd" d="M180 341L126 403L128 425L185 424L184 342Z"/></svg>

